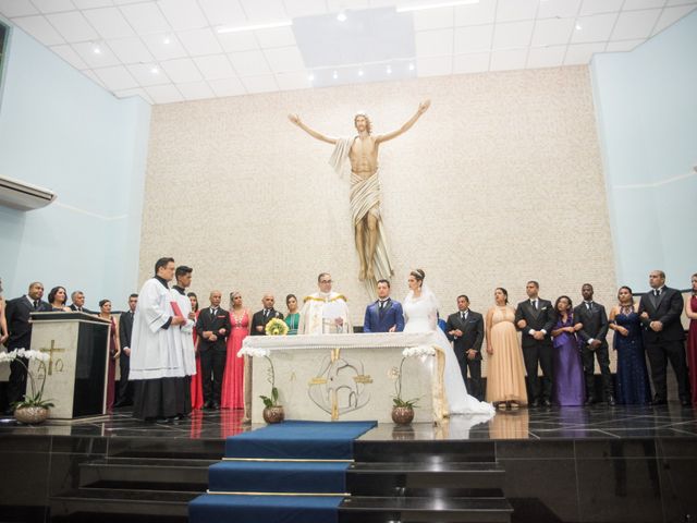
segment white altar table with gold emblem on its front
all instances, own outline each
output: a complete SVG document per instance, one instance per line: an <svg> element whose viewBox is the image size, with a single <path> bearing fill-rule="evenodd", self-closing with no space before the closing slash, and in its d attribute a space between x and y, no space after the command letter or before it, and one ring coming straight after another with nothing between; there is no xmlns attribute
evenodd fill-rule
<svg viewBox="0 0 697 523"><path fill-rule="evenodd" d="M418 398L414 422L447 415L444 354L430 332L249 336L243 348L269 351L286 419L391 422L402 365L403 400ZM406 348L431 346L436 356L407 357ZM252 423L264 423L259 396L271 396L271 365L253 358ZM402 364L403 363L403 364Z"/></svg>

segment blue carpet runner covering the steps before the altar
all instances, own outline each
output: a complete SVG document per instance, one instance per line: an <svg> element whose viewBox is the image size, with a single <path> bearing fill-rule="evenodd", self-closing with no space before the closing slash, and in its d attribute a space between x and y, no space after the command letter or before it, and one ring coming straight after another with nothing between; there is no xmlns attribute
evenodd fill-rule
<svg viewBox="0 0 697 523"><path fill-rule="evenodd" d="M228 438L191 523L337 523L353 440L375 422L284 422Z"/></svg>

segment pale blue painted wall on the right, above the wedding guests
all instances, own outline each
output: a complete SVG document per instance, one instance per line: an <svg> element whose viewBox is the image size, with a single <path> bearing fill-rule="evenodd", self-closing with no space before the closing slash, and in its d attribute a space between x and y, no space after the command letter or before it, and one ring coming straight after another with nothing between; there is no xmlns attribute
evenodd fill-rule
<svg viewBox="0 0 697 523"><path fill-rule="evenodd" d="M697 272L697 12L591 63L619 284Z"/></svg>

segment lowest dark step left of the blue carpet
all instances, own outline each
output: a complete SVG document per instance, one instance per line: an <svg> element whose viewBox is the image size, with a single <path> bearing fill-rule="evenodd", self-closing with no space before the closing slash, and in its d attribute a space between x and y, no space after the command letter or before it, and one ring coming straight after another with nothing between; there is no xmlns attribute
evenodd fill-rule
<svg viewBox="0 0 697 523"><path fill-rule="evenodd" d="M100 514L185 518L188 502L199 494L137 489L73 489L50 498L51 518L72 518L71 514L96 514L93 521L97 521L97 515Z"/></svg>

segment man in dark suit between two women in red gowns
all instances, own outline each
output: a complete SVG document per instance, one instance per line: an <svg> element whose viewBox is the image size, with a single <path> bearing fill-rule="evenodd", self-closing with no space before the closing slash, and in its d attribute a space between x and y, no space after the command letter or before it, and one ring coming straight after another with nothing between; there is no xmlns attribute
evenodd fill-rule
<svg viewBox="0 0 697 523"><path fill-rule="evenodd" d="M210 307L201 308L196 321L198 332L198 353L200 355L200 374L204 386L204 408L220 409L222 376L225 370L225 354L230 336L230 314L220 307L220 291L210 293ZM211 381L212 376L212 381Z"/></svg>

